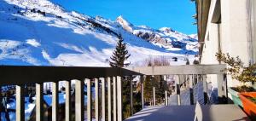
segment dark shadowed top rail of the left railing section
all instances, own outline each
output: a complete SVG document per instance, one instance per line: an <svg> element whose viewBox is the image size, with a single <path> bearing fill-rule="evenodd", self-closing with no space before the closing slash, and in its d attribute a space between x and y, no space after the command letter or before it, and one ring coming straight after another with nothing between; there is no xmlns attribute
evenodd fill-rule
<svg viewBox="0 0 256 121"><path fill-rule="evenodd" d="M0 84L29 84L61 80L141 75L125 68L85 66L0 66Z"/></svg>

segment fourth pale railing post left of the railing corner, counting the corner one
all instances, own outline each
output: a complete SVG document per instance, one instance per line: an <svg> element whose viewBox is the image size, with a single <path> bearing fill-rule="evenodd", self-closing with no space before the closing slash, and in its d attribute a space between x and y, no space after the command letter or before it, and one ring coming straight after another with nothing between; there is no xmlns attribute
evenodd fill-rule
<svg viewBox="0 0 256 121"><path fill-rule="evenodd" d="M102 121L106 120L106 108L105 108L105 78L100 78L102 81Z"/></svg>

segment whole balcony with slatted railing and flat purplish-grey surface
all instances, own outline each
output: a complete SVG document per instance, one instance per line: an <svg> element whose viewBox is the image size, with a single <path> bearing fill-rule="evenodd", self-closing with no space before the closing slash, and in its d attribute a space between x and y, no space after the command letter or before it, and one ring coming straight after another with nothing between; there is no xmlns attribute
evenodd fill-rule
<svg viewBox="0 0 256 121"><path fill-rule="evenodd" d="M60 120L59 113L60 96L59 82L64 82L65 96L63 116L67 121L73 120L193 120L195 118L195 102L199 101L198 92L203 98L200 100L204 120L234 119L248 120L247 115L239 107L228 103L226 73L222 72L225 65L193 65L193 66L145 66L145 67L79 67L79 66L0 66L1 85L15 85L15 120L27 120L25 115L25 97L28 84L35 84L35 120L45 120L44 118L44 83L51 83L51 118L49 120ZM218 75L218 104L210 104L207 74ZM177 106L171 105L171 98L165 91L165 103L156 106L155 89L153 89L153 105L144 107L144 76L150 75L173 75L175 77L175 92ZM130 118L123 117L122 80L132 76L140 76L140 86L142 91L143 110L137 112ZM71 89L71 82L74 89ZM197 88L197 84L202 84L203 89ZM104 85L104 86L103 86ZM86 87L86 88L85 88ZM131 86L132 87L132 86ZM188 94L186 101L183 101L181 88L186 87ZM132 88L131 88L132 89ZM130 90L131 90L130 89ZM92 93L93 92L93 93ZM132 92L132 91L131 91ZM84 98L86 95L86 98ZM74 96L74 106L72 105ZM131 109L133 100L131 93ZM94 101L92 101L92 98ZM86 102L86 103L85 103ZM101 102L101 104L100 104ZM188 104L184 106L183 103ZM86 105L86 107L85 107ZM74 111L73 111L74 110ZM231 114L231 115L230 115Z"/></svg>

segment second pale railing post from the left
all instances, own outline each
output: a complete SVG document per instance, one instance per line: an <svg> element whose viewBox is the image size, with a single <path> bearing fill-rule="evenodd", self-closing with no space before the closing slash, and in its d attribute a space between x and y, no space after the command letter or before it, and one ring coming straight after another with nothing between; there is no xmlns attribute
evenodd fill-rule
<svg viewBox="0 0 256 121"><path fill-rule="evenodd" d="M44 118L43 85L44 84L36 84L36 120L37 121L43 121L43 118Z"/></svg>

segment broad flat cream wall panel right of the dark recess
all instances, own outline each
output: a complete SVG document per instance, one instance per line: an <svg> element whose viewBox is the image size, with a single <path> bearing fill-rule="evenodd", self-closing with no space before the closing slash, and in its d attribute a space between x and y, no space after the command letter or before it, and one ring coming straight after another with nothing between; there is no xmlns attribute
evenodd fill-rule
<svg viewBox="0 0 256 121"><path fill-rule="evenodd" d="M221 1L221 49L231 56L240 56L248 65L248 10L247 0Z"/></svg>

